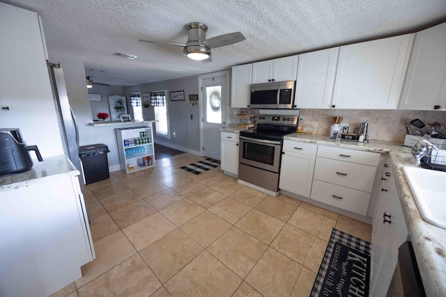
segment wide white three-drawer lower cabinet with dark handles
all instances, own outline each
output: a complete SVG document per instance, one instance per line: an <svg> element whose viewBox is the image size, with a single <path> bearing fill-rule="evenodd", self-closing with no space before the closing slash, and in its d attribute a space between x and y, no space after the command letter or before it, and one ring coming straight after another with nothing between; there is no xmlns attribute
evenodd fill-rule
<svg viewBox="0 0 446 297"><path fill-rule="evenodd" d="M367 215L380 154L319 145L311 199Z"/></svg>

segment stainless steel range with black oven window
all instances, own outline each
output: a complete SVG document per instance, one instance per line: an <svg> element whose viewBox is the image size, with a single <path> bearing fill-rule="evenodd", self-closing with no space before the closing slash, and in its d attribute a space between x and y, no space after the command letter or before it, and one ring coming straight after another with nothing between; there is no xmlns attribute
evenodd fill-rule
<svg viewBox="0 0 446 297"><path fill-rule="evenodd" d="M299 111L282 113L285 114L261 114L256 129L240 132L240 184L266 189L270 194L279 191L283 138L296 131L299 119Z"/></svg>

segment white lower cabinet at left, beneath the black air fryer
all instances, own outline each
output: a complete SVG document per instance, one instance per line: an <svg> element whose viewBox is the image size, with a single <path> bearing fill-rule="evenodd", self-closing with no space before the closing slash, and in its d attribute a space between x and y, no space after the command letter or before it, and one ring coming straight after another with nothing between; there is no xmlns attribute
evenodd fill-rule
<svg viewBox="0 0 446 297"><path fill-rule="evenodd" d="M0 192L0 296L49 296L95 257L79 179L47 180Z"/></svg>

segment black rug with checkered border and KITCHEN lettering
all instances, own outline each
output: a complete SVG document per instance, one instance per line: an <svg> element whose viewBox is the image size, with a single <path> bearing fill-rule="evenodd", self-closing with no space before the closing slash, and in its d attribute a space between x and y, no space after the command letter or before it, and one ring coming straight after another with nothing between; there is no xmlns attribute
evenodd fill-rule
<svg viewBox="0 0 446 297"><path fill-rule="evenodd" d="M333 228L310 296L369 296L370 259L370 243Z"/></svg>

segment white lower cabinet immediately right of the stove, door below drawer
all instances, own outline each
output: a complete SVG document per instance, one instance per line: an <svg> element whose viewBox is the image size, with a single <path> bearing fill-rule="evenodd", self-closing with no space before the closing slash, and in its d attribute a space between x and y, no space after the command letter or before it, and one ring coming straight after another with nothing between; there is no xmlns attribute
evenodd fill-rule
<svg viewBox="0 0 446 297"><path fill-rule="evenodd" d="M284 141L279 188L310 197L317 145Z"/></svg>

